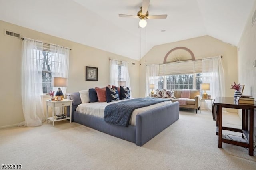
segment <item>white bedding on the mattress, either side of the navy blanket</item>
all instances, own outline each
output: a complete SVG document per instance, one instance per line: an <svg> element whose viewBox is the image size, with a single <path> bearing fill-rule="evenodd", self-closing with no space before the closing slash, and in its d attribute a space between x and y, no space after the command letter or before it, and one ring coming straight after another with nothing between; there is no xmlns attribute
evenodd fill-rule
<svg viewBox="0 0 256 170"><path fill-rule="evenodd" d="M109 103L107 103L107 102L82 103L82 104L78 105L78 107L76 108L76 111L80 112L80 113L84 113L86 115L93 115L93 116L96 116L96 117L103 118L104 117L104 109L107 105L117 103L117 102L122 102L122 101L124 101L124 100L113 101L113 102L109 102ZM144 111L147 111L149 109L153 109L155 107L160 107L160 106L163 106L163 105L167 105L169 103L172 103L172 102L171 101L164 101L164 102L156 103L154 105L150 105L150 106L135 109L132 112L132 117L130 119L129 124L135 125L135 118L136 118L137 114L142 113Z"/></svg>

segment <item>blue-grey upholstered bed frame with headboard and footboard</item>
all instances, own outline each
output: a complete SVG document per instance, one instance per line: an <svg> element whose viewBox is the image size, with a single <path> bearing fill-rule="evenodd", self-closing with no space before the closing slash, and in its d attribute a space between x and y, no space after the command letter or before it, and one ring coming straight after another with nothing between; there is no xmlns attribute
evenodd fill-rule
<svg viewBox="0 0 256 170"><path fill-rule="evenodd" d="M73 100L72 121L133 142L137 146L142 146L179 119L179 103L171 102L136 114L134 116L134 123L123 127L107 123L102 117L95 116L91 113L82 113L79 109L83 105L81 104L80 93L68 93L66 97L67 99ZM89 105L94 104L90 103ZM67 115L70 115L69 109L67 109Z"/></svg>

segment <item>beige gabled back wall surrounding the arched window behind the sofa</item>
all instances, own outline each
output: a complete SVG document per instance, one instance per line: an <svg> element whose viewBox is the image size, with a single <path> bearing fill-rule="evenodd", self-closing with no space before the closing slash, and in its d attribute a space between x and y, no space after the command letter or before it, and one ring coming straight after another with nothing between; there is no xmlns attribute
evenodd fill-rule
<svg viewBox="0 0 256 170"><path fill-rule="evenodd" d="M145 62L145 57L141 59L140 97L145 96L146 65L163 63L166 53L175 47L186 47L190 49L194 53L196 60L222 55L226 80L226 96L234 96L234 91L230 89L230 85L233 81L237 82L237 47L210 36L202 36L153 47L146 55L147 62Z"/></svg>

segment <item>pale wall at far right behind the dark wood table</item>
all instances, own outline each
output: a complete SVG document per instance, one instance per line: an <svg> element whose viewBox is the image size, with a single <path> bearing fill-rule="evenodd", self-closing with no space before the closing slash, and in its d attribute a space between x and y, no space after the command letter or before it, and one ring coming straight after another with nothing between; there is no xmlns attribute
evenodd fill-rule
<svg viewBox="0 0 256 170"><path fill-rule="evenodd" d="M256 98L256 22L252 26L253 12L256 10L256 2L244 27L243 34L238 43L238 80L244 84L244 95L252 95ZM239 114L241 117L241 113ZM254 109L254 127L256 127L256 110ZM256 131L256 128L254 132Z"/></svg>

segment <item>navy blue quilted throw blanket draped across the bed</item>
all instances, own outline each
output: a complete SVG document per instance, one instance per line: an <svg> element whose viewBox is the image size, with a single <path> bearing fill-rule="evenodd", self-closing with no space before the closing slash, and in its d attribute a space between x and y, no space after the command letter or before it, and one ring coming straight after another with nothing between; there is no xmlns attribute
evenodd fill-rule
<svg viewBox="0 0 256 170"><path fill-rule="evenodd" d="M115 125L128 127L132 111L140 107L170 101L161 98L137 98L107 105L104 110L104 121Z"/></svg>

